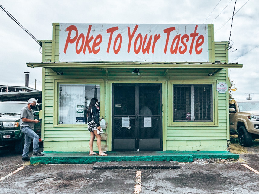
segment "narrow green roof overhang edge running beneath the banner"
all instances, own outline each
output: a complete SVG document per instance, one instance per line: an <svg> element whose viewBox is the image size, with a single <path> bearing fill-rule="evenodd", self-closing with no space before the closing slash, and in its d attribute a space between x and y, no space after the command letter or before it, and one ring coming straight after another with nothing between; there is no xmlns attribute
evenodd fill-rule
<svg viewBox="0 0 259 194"><path fill-rule="evenodd" d="M44 68L147 68L147 69L176 69L176 68L242 68L238 63L172 63L172 62L41 62L26 63L28 67Z"/></svg>

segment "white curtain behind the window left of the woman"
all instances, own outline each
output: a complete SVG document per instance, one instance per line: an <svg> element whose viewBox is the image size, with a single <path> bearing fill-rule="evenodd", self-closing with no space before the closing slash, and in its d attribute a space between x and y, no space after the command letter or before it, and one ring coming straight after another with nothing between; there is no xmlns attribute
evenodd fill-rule
<svg viewBox="0 0 259 194"><path fill-rule="evenodd" d="M81 105L83 113L77 113ZM76 117L84 117L84 106L85 85L59 85L59 124L77 124Z"/></svg>

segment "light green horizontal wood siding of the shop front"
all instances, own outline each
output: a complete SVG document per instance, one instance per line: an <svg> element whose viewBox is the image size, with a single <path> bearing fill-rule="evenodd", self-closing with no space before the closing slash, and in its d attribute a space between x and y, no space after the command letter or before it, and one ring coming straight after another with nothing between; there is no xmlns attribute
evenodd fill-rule
<svg viewBox="0 0 259 194"><path fill-rule="evenodd" d="M209 40L209 62L220 61L221 63L228 62L228 52L225 50L228 42L214 42L214 30L213 25L208 26L208 40ZM59 24L53 23L53 40L47 40L44 43L43 50L43 61L47 62L51 60L52 62L58 62L59 54ZM127 64L124 64L127 65ZM220 94L215 90L217 101L213 101L216 107L216 124L207 125L206 122L199 124L198 126L192 125L192 123L186 123L183 126L171 125L169 122L172 113L169 112L170 106L172 106L172 84L170 80L191 81L192 84L199 84L199 80L206 80L207 83L214 82L226 82L228 83L228 69L222 69L214 76L208 76L208 73L214 72L217 69L214 68L190 68L190 69L168 69L165 72L164 69L141 69L141 75L136 76L131 74L128 69L107 69L108 74L105 69L94 69L94 68L63 68L63 75L57 75L55 71L61 68L43 68L43 104L44 104L44 119L43 119L43 129L44 129L44 141L47 142L58 142L58 141L76 141L85 142L89 141L90 134L86 127L55 127L54 114L57 110L54 110L54 80L71 80L71 79L102 79L104 80L104 115L105 118L110 116L108 113L110 110L111 99L109 97L111 88L108 85L108 81L166 81L166 86L163 93L166 94L166 105L165 116L166 122L164 123L165 132L165 150L195 150L195 147L200 146L202 148L210 149L209 145L206 145L204 141L215 141L218 145L212 145L216 150L222 150L226 148L227 139L229 138L228 132L228 93ZM215 99L214 99L215 100ZM109 120L110 118L107 118ZM111 119L110 119L111 120ZM109 129L108 134L111 134ZM107 137L107 143L110 142L111 137ZM183 147L180 148L181 143L179 141L186 142L183 143ZM202 143L203 141L203 143ZM102 141L104 142L104 141ZM177 142L177 143L176 143ZM82 143L83 144L83 143ZM215 143L217 144L217 143ZM50 144L51 145L51 144ZM78 144L79 145L79 144ZM178 146L178 147L177 147ZM186 147L185 147L186 146ZM189 146L189 147L188 147ZM202 147L203 146L203 147ZM188 148L187 148L188 147ZM211 148L211 150L214 150ZM197 149L196 149L197 150Z"/></svg>

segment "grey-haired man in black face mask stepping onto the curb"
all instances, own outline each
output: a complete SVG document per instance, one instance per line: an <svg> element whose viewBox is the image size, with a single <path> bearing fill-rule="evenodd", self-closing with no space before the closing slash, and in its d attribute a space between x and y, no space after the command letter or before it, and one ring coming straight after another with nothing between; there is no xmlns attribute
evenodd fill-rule
<svg viewBox="0 0 259 194"><path fill-rule="evenodd" d="M34 119L32 109L35 108L37 100L31 98L28 100L27 106L22 108L20 117L21 131L24 133L24 148L22 153L22 161L30 160L29 157L29 147L31 144L31 139L33 142L33 156L44 156L44 154L39 152L39 135L34 131L34 123L39 123L38 119Z"/></svg>

